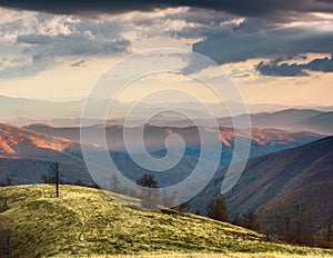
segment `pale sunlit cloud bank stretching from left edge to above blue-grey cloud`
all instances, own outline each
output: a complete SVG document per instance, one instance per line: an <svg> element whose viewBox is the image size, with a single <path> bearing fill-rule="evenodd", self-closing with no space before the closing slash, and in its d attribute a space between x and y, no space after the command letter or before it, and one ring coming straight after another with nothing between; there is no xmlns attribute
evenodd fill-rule
<svg viewBox="0 0 333 258"><path fill-rule="evenodd" d="M8 18L0 20L0 43L7 44L7 48L6 51L4 48L0 50L0 57L24 56L31 60L22 62L22 66L0 67L2 78L33 76L52 67L62 56L83 59L84 56L131 52L131 41L157 36L202 39L221 30L235 30L244 20L213 10L189 11L189 8L107 16L103 19L27 11L18 16L18 11L6 9L2 9L2 14ZM210 22L206 16L211 17Z"/></svg>

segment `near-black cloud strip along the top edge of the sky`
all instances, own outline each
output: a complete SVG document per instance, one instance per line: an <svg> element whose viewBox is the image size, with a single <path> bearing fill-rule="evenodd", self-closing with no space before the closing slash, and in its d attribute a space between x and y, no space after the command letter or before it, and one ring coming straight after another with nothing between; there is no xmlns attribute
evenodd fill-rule
<svg viewBox="0 0 333 258"><path fill-rule="evenodd" d="M0 6L7 8L37 10L51 13L122 13L128 11L151 11L165 7L193 7L221 10L241 16L269 16L280 11L331 12L333 3L329 0L141 0L141 1L104 1L104 0L4 0Z"/></svg>

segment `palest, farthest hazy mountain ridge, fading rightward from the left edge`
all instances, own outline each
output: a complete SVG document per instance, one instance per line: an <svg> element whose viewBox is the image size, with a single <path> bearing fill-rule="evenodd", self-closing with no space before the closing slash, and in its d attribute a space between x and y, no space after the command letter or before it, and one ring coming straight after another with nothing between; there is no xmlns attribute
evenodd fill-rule
<svg viewBox="0 0 333 258"><path fill-rule="evenodd" d="M1 122L12 122L21 126L29 120L41 121L52 121L52 119L78 119L81 117L82 109L84 107L87 99L79 99L73 101L44 101L44 100L33 100L23 98L10 98L6 96L0 96L0 117ZM109 99L89 99L90 107L89 111L85 112L90 118L97 117L98 113L103 112L109 109L111 100ZM112 118L124 118L132 107L131 102L122 102L112 100ZM206 118L206 112L198 109L195 103L165 103L165 110L170 107L178 107L179 110L188 113L192 118L204 119ZM151 110L155 109L155 105L140 103L137 109L140 109L140 116L135 117L138 120L148 118L151 115ZM163 105L159 105L163 107ZM212 107L214 110L216 108ZM225 110L223 105L218 105L218 110ZM138 110L137 110L138 111ZM226 112L224 112L226 113ZM176 116L175 119L179 119ZM90 119L89 119L90 120ZM174 120L173 118L171 120ZM57 121L56 121L57 122Z"/></svg>

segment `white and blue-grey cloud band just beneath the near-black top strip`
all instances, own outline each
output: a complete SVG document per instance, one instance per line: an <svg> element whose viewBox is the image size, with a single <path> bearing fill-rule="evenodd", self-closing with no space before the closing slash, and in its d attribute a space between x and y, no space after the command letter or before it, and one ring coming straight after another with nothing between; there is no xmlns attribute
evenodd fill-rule
<svg viewBox="0 0 333 258"><path fill-rule="evenodd" d="M293 19L243 18L222 11L169 8L150 12L102 14L93 19L0 9L0 58L27 57L33 63L2 66L0 76L20 76L11 69L27 68L24 76L52 67L59 56L118 54L140 48L176 46L175 40L193 44L193 50L219 63L253 58L333 49L330 14L305 13ZM209 19L208 19L209 17ZM302 24L301 24L301 23ZM332 28L332 27L331 27ZM148 42L148 44L145 44ZM4 60L4 59L3 59ZM43 67L36 67L43 66ZM191 63L190 63L191 66ZM193 71L201 69L192 67ZM8 76L7 76L8 77Z"/></svg>

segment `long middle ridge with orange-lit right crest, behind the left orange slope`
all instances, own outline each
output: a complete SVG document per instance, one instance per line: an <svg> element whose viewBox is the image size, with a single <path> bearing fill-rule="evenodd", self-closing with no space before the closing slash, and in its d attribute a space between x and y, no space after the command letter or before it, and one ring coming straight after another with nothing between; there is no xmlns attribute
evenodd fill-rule
<svg viewBox="0 0 333 258"><path fill-rule="evenodd" d="M54 128L47 125L31 125L24 127L29 130L39 131L56 137L63 137L70 140L80 141L79 128ZM93 126L85 128L89 132L88 142L97 143L97 136L103 133L103 128L100 126ZM195 127L155 127L147 126L144 129L144 143L149 150L160 150L164 148L164 141L168 135L179 133L186 142L186 155L199 157L200 155L200 138L198 129ZM107 126L105 136L110 149L123 151L123 128L121 126ZM233 152L234 130L232 128L220 128L220 140L223 145L223 153L221 156L221 163L228 166L231 155ZM246 130L243 130L239 137L246 137ZM251 157L261 156L279 151L286 148L296 147L307 143L310 141L322 138L322 136L312 132L291 132L279 129L252 129L252 148ZM133 143L133 142L132 142Z"/></svg>

